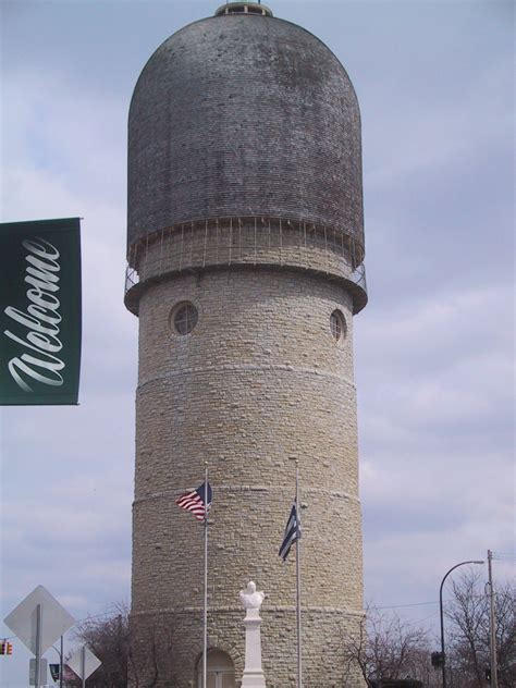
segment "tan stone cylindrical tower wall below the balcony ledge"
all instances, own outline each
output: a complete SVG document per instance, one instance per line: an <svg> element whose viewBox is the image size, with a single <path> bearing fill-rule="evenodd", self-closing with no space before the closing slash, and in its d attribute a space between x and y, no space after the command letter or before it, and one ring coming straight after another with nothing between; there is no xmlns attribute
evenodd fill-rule
<svg viewBox="0 0 516 688"><path fill-rule="evenodd" d="M199 312L186 336L170 327L183 300ZM347 325L341 343L330 330L334 309ZM302 486L305 685L342 684L342 647L336 654L331 647L344 628L357 628L363 605L352 312L341 283L285 268L177 274L143 293L132 613L134 625L164 623L172 634L175 661L165 674L176 684L159 685L189 686L193 648L200 652L202 527L174 500L202 481L204 460L214 493L212 642L238 668L237 591L255 579L268 593L268 686L293 685L295 566L278 556L294 497L293 457Z"/></svg>

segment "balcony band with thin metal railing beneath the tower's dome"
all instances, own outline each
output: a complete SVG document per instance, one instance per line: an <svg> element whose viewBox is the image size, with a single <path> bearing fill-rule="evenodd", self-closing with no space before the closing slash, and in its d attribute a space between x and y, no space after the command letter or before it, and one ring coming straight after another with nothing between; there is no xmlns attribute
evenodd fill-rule
<svg viewBox="0 0 516 688"><path fill-rule="evenodd" d="M273 265L342 277L367 293L364 247L340 230L272 217L232 217L177 224L135 242L125 292L139 282L208 266Z"/></svg>

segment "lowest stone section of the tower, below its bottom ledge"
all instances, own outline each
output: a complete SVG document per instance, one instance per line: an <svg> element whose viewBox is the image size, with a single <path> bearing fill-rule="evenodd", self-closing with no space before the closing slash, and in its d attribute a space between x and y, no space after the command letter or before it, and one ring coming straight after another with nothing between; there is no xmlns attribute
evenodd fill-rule
<svg viewBox="0 0 516 688"><path fill-rule="evenodd" d="M359 667L346 656L346 638L359 631L361 614L303 609L304 688L365 688ZM245 639L242 607L208 613L209 651L219 649L233 662L235 688L296 688L296 613L294 607L262 609L265 684L244 684ZM286 630L285 630L286 629ZM200 607L131 616L132 688L197 688L202 666ZM254 678L249 674L249 679ZM239 683L242 680L242 684Z"/></svg>

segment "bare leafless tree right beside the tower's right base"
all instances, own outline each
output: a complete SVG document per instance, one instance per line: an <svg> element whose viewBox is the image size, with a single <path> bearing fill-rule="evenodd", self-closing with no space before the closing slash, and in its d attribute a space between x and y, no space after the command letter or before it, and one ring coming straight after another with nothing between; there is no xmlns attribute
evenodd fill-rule
<svg viewBox="0 0 516 688"><path fill-rule="evenodd" d="M348 666L358 665L368 686L376 680L406 678L428 685L427 636L423 628L402 621L396 614L368 606L358 634L344 638Z"/></svg>

